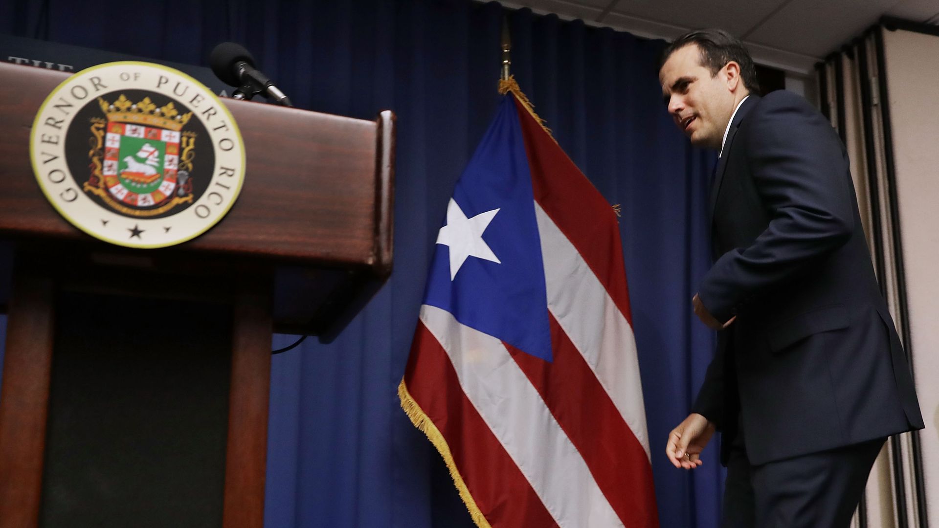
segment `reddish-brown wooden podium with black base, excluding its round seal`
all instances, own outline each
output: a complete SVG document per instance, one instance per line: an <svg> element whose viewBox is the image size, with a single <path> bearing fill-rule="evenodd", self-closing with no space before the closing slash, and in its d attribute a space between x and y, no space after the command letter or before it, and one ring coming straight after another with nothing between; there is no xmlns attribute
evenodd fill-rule
<svg viewBox="0 0 939 528"><path fill-rule="evenodd" d="M0 63L0 528L260 528L271 332L329 341L390 275L393 114L224 100L247 152L235 206L130 250L69 225L33 175L64 78Z"/></svg>

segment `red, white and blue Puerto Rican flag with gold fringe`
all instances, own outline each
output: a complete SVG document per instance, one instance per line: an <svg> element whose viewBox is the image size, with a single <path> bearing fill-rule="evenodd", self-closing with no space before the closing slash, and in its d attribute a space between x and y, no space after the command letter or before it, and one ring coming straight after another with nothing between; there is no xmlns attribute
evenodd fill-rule
<svg viewBox="0 0 939 528"><path fill-rule="evenodd" d="M402 407L476 524L657 527L616 215L513 93L439 230Z"/></svg>

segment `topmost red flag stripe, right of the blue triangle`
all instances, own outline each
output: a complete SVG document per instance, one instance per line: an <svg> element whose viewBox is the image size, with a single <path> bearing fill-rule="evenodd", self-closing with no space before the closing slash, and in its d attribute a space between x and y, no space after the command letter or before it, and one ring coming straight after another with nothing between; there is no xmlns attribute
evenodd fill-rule
<svg viewBox="0 0 939 528"><path fill-rule="evenodd" d="M616 213L516 98L534 199L577 248L632 325Z"/></svg>

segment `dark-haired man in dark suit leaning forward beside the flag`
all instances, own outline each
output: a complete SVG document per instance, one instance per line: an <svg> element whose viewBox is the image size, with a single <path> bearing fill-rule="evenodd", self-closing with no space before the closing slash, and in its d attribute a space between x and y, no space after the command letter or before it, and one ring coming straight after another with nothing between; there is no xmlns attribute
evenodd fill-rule
<svg viewBox="0 0 939 528"><path fill-rule="evenodd" d="M727 32L688 33L661 65L675 124L720 152L715 263L692 301L717 350L666 453L697 468L723 432L725 527L847 527L885 438L923 427L847 153L801 97L756 95Z"/></svg>

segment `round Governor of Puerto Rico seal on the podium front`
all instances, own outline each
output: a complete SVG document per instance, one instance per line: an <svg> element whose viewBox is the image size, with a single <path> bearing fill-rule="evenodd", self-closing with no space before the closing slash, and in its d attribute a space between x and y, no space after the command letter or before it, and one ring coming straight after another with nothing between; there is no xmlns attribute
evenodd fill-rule
<svg viewBox="0 0 939 528"><path fill-rule="evenodd" d="M39 108L30 136L39 187L63 217L114 244L189 241L220 220L244 179L244 143L222 101L146 62L79 71Z"/></svg>

